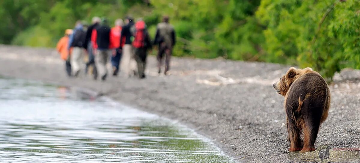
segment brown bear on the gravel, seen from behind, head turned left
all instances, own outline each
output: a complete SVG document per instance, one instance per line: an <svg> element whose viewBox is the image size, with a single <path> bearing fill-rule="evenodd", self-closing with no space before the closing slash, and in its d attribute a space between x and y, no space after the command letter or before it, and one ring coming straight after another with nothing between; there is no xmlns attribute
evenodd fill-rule
<svg viewBox="0 0 360 163"><path fill-rule="evenodd" d="M285 96L289 151L315 150L320 124L328 117L330 108L328 84L311 68L291 67L273 86L276 92Z"/></svg>

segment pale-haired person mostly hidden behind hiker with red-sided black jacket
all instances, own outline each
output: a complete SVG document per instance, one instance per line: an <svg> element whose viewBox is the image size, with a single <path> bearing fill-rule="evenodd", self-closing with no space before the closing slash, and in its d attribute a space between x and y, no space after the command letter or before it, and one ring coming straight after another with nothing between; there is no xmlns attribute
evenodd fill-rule
<svg viewBox="0 0 360 163"><path fill-rule="evenodd" d="M87 50L87 54L89 55L89 61L86 63L85 74L87 74L87 70L89 69L89 66L92 65L94 78L97 78L97 72L95 67L95 56L93 52L93 43L91 42L91 34L93 33L93 30L99 26L101 19L99 17L93 17L93 20L91 22L93 24L87 28L86 39L84 44L85 49Z"/></svg>

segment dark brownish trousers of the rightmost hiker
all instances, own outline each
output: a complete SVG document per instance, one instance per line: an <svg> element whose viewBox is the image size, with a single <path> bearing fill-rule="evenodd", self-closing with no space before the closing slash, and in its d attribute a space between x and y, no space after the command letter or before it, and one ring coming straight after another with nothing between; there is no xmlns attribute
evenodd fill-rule
<svg viewBox="0 0 360 163"><path fill-rule="evenodd" d="M159 73L161 71L161 65L162 65L162 59L164 58L164 54L165 54L165 74L167 71L169 71L170 69L170 59L171 59L171 54L172 54L172 47L171 46L167 46L166 44L160 44L159 45L159 53L157 55L157 60L158 60L158 68L159 68Z"/></svg>

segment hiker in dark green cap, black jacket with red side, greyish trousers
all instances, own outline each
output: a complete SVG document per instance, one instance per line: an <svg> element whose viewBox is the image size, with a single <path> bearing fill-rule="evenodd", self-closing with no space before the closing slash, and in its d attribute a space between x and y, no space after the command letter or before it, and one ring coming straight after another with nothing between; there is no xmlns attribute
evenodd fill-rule
<svg viewBox="0 0 360 163"><path fill-rule="evenodd" d="M93 30L91 34L91 41L95 52L96 71L101 79L104 81L108 75L106 64L108 63L110 50L110 31L107 19L103 18L100 26Z"/></svg>

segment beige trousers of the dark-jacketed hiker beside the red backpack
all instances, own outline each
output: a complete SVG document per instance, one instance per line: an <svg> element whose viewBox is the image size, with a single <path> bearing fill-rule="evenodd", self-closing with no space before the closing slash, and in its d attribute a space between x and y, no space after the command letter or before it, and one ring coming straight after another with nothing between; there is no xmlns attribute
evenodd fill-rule
<svg viewBox="0 0 360 163"><path fill-rule="evenodd" d="M122 56L121 56L121 71L125 74L125 77L130 77L134 75L134 71L137 72L137 64L134 59L134 48L130 44L125 44L122 47Z"/></svg>

